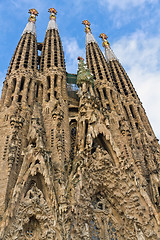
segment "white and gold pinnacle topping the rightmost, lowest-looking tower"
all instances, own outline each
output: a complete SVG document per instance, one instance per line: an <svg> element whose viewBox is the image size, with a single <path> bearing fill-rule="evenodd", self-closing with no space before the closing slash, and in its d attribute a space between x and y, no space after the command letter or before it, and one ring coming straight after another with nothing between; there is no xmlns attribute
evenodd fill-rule
<svg viewBox="0 0 160 240"><path fill-rule="evenodd" d="M112 60L118 60L110 47L110 44L107 40L107 38L108 38L107 35L105 33L101 33L99 37L102 38L102 40L103 40L102 45L105 48L105 58L106 58L107 62L112 61Z"/></svg>

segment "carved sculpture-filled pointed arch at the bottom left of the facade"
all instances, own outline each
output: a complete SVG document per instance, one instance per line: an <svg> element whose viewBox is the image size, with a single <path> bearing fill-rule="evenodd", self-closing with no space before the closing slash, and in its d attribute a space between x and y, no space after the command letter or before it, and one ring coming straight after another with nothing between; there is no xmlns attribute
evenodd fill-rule
<svg viewBox="0 0 160 240"><path fill-rule="evenodd" d="M17 207L14 221L7 226L3 239L62 240L55 221L56 211L51 211L43 193L33 185Z"/></svg>

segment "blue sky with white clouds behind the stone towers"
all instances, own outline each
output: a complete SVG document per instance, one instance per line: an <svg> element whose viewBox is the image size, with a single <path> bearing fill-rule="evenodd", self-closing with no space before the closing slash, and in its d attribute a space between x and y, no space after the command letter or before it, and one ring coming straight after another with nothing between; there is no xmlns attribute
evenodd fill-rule
<svg viewBox="0 0 160 240"><path fill-rule="evenodd" d="M82 20L103 51L104 32L143 102L160 138L160 1L159 0L0 0L0 87L20 36L28 22L28 9L36 8L37 39L43 42L48 9L57 11L67 71L76 73L77 56L85 57Z"/></svg>

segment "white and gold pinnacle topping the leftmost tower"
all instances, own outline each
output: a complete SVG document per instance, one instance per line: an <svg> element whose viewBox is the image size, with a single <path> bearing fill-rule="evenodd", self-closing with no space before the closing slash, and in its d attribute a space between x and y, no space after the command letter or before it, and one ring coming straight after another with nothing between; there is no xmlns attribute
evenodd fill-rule
<svg viewBox="0 0 160 240"><path fill-rule="evenodd" d="M33 8L33 9L30 9L28 13L30 13L31 15L28 19L28 23L23 31L23 34L32 33L36 37L37 34L36 34L35 22L36 22L36 16L38 16L38 12L35 8Z"/></svg>

